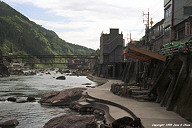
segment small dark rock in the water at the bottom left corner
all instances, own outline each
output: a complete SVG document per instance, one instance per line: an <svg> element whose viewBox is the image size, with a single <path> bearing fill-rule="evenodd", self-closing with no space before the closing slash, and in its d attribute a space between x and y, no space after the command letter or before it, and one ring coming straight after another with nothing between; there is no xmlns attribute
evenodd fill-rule
<svg viewBox="0 0 192 128"><path fill-rule="evenodd" d="M14 119L14 120L9 120L9 121L5 121L5 122L1 122L0 123L0 127L1 128L14 128L18 124L19 124L19 122L16 119Z"/></svg>

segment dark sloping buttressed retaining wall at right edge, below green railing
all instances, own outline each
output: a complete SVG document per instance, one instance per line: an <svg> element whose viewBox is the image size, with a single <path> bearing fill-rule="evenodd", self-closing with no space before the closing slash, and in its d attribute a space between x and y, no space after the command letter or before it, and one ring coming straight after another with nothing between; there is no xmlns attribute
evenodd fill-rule
<svg viewBox="0 0 192 128"><path fill-rule="evenodd" d="M192 57L178 54L167 61L161 68L151 93L157 95L156 102L162 107L192 121Z"/></svg>

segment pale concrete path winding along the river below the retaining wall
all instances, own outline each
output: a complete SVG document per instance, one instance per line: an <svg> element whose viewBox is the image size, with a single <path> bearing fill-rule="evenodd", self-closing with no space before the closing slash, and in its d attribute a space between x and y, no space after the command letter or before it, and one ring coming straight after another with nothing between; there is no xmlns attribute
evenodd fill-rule
<svg viewBox="0 0 192 128"><path fill-rule="evenodd" d="M136 114L137 117L141 118L142 124L145 128L160 128L160 125L161 128L173 128L174 124L176 128L192 128L192 125L178 126L181 124L190 125L190 122L186 121L184 118L180 117L175 112L166 111L165 107L161 107L157 103L139 102L134 99L120 97L111 93L111 84L120 82L121 81L117 80L109 80L109 82L105 83L102 86L88 89L87 92L90 96L109 100L129 108ZM120 110L119 108L113 106L109 106L109 108L111 116L115 119L124 116L129 116L128 113L123 110Z"/></svg>

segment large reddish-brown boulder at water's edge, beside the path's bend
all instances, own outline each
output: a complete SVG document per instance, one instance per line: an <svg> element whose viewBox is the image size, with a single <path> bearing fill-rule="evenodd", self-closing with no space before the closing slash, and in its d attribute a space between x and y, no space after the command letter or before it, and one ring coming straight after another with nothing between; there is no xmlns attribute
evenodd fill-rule
<svg viewBox="0 0 192 128"><path fill-rule="evenodd" d="M85 88L72 88L63 91L53 91L43 95L40 103L43 105L68 106L74 101L78 101L82 96Z"/></svg>

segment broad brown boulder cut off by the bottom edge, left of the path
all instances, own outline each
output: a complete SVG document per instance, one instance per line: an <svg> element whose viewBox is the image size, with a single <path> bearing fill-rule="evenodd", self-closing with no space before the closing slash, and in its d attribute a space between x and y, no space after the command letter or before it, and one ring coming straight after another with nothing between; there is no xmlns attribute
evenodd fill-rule
<svg viewBox="0 0 192 128"><path fill-rule="evenodd" d="M63 115L49 120L43 128L97 128L93 115Z"/></svg>

